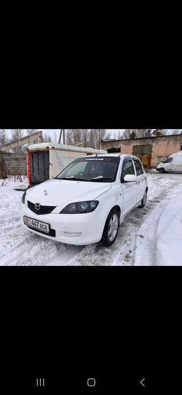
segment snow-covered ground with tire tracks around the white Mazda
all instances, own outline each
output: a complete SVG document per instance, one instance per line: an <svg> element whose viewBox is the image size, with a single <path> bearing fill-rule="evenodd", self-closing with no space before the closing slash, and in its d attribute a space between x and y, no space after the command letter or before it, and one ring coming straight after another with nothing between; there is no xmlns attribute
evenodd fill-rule
<svg viewBox="0 0 182 395"><path fill-rule="evenodd" d="M23 184L1 187L0 180L0 265L182 265L182 174L147 174L147 204L127 215L110 248L62 244L24 229L23 192L14 190Z"/></svg>

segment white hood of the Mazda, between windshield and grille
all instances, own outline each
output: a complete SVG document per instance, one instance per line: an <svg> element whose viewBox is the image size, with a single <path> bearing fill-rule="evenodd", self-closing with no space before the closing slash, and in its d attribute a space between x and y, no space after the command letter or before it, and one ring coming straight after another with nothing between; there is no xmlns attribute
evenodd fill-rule
<svg viewBox="0 0 182 395"><path fill-rule="evenodd" d="M111 187L112 183L53 179L30 188L27 191L26 200L41 205L59 206L60 210L70 203L94 200Z"/></svg>

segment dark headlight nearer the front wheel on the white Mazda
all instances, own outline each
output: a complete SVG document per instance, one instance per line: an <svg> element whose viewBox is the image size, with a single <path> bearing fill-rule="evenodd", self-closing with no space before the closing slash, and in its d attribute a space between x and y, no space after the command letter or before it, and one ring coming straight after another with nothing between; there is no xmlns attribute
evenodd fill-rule
<svg viewBox="0 0 182 395"><path fill-rule="evenodd" d="M78 201L76 203L68 204L60 214L83 214L91 213L98 206L98 200Z"/></svg>

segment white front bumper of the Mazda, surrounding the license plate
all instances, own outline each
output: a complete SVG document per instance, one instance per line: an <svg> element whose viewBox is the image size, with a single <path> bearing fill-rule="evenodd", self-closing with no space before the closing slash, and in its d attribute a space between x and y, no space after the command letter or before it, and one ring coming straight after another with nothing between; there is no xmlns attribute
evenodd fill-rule
<svg viewBox="0 0 182 395"><path fill-rule="evenodd" d="M21 224L38 235L56 240L61 243L86 245L100 241L108 216L108 210L97 209L87 214L34 214L22 201L19 203L19 215ZM24 216L50 225L51 230L55 230L56 235L41 233L24 224Z"/></svg>

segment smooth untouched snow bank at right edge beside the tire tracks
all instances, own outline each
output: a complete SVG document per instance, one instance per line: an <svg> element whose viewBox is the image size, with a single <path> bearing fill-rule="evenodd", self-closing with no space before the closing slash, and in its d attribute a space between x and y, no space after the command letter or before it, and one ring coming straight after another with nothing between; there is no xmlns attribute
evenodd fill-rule
<svg viewBox="0 0 182 395"><path fill-rule="evenodd" d="M158 265L182 265L182 200L162 212L157 228Z"/></svg>

